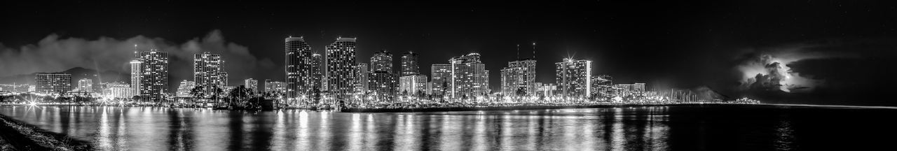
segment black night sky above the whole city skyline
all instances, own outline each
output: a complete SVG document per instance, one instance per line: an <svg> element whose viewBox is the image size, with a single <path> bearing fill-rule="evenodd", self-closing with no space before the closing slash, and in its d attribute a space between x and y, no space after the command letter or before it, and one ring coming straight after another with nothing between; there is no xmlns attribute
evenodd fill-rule
<svg viewBox="0 0 897 151"><path fill-rule="evenodd" d="M594 61L595 74L612 75L614 83L710 88L774 103L897 105L873 99L893 93L897 83L893 2L559 2L3 4L0 70L7 72L0 76L73 67L126 71L133 45L149 44L183 55L229 51L222 54L231 83L283 80L283 38L304 37L323 53L342 36L358 38L360 63L387 49L397 66L398 56L414 51L428 75L432 63L480 53L490 87L498 90L501 68L518 58L517 46L520 58L532 57L536 42L539 82L553 82L553 63L572 57ZM53 45L57 42L65 45ZM60 54L55 51L90 52L82 60L98 61L54 63L68 55L40 57ZM786 64L789 76L764 71L764 55ZM34 60L41 61L27 69L13 63ZM172 83L192 76L188 61L175 60L171 74L179 75L172 75ZM251 71L235 71L240 69ZM754 78L756 69L788 77L780 81L790 89L745 80Z"/></svg>

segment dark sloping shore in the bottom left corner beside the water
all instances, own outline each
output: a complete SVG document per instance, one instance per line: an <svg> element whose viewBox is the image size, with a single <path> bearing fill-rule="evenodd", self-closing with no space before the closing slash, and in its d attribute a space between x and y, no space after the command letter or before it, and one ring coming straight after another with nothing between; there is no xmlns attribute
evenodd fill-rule
<svg viewBox="0 0 897 151"><path fill-rule="evenodd" d="M90 142L69 138L39 129L0 114L0 149L2 150L91 150Z"/></svg>

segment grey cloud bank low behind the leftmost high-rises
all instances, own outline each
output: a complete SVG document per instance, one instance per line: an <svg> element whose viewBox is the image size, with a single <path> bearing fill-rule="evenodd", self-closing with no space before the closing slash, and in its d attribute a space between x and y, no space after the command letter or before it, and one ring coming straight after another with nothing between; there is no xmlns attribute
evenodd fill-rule
<svg viewBox="0 0 897 151"><path fill-rule="evenodd" d="M220 30L213 30L203 38L193 38L181 44L164 38L144 36L126 39L100 37L91 40L60 38L56 34L41 39L37 44L19 48L0 44L0 77L65 71L74 67L127 73L130 68L127 63L134 58L135 48L169 52L170 84L179 80L192 80L193 55L203 51L222 55L225 61L224 71L228 71L231 85L239 85L237 82L248 78L277 78L274 76L277 74L264 73L277 71L271 59L259 59L249 53L248 47L225 41Z"/></svg>

